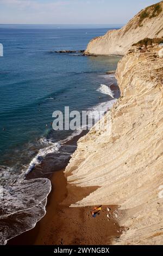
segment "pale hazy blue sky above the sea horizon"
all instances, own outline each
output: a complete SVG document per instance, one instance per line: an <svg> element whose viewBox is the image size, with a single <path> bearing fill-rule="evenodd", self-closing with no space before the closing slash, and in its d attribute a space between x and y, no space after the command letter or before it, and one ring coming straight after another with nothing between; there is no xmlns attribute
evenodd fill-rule
<svg viewBox="0 0 163 256"><path fill-rule="evenodd" d="M125 24L159 0L0 0L1 24Z"/></svg>

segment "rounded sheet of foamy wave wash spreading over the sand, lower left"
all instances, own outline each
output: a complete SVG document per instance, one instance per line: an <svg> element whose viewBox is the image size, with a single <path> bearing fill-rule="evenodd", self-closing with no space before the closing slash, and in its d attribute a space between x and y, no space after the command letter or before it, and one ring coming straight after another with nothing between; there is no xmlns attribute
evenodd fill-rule
<svg viewBox="0 0 163 256"><path fill-rule="evenodd" d="M35 227L46 214L47 196L51 181L37 178L4 187L0 198L0 245ZM10 220L12 219L12 225Z"/></svg>

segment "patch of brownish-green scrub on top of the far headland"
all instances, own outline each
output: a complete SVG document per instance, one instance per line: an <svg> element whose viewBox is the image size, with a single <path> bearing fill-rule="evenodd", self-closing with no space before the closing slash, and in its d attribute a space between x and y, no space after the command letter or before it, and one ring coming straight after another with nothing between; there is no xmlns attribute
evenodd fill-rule
<svg viewBox="0 0 163 256"><path fill-rule="evenodd" d="M146 18L152 19L153 17L157 17L162 11L162 7L160 3L153 4L147 7L145 10L141 11L139 14L139 26L142 27L142 22Z"/></svg>

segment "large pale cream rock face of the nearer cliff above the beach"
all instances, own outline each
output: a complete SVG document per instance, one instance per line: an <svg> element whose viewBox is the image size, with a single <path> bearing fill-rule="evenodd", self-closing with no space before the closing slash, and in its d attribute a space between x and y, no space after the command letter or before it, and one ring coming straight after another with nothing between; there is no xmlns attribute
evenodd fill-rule
<svg viewBox="0 0 163 256"><path fill-rule="evenodd" d="M151 20L152 21L152 20ZM114 32L115 33L115 32ZM163 49L163 48L162 48ZM105 119L110 129L78 142L65 173L76 186L99 186L72 206L120 205L126 231L115 244L163 243L163 58L158 45L133 47L118 63L121 90Z"/></svg>

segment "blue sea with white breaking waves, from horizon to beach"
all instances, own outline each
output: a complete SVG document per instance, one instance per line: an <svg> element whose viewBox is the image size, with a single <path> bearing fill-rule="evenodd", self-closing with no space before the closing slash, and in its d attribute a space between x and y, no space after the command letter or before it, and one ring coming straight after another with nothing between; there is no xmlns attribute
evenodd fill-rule
<svg viewBox="0 0 163 256"><path fill-rule="evenodd" d="M116 27L115 27L116 28ZM0 25L0 244L34 227L45 215L51 182L24 180L40 168L64 167L74 151L68 143L82 132L54 131L53 111L103 110L119 97L112 75L120 57L56 53L84 50L111 26ZM45 165L42 166L42 162ZM11 225L11 222L14 223Z"/></svg>

